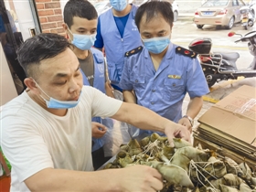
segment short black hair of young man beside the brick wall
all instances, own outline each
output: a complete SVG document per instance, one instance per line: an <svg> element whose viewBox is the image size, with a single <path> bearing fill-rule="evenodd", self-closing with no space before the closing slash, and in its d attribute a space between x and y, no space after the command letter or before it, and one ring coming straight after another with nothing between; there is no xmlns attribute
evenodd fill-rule
<svg viewBox="0 0 256 192"><path fill-rule="evenodd" d="M87 0L69 0L64 7L64 22L70 28L73 25L73 17L78 16L93 20L98 18L98 13L93 5Z"/></svg>

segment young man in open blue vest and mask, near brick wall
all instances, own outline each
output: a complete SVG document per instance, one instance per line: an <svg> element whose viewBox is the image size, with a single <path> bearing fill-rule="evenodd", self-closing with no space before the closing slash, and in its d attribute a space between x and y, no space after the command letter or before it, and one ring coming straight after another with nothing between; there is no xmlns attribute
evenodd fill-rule
<svg viewBox="0 0 256 192"><path fill-rule="evenodd" d="M113 97L112 88L107 79L103 54L100 50L91 48L96 39L97 18L97 11L89 1L69 0L64 8L65 24L63 27L66 36L75 46L73 52L80 61L83 84ZM101 136L106 133L106 127L101 123L100 117L92 118L92 160L95 169L108 160L108 158L104 158L102 147L104 143L101 140Z"/></svg>

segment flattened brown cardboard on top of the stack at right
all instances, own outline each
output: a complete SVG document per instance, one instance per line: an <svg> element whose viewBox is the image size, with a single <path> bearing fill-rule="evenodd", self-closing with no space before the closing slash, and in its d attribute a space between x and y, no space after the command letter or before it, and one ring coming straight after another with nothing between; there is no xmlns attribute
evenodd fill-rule
<svg viewBox="0 0 256 192"><path fill-rule="evenodd" d="M256 88L243 85L205 112L198 122L232 142L256 147Z"/></svg>

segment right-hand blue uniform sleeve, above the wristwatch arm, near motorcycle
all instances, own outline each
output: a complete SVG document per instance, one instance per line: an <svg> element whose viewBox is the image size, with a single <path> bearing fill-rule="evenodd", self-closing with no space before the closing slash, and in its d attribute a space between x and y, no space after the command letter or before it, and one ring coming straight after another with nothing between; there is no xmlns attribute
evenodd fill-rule
<svg viewBox="0 0 256 192"><path fill-rule="evenodd" d="M197 59L187 68L187 92L190 98L201 97L209 92L208 83Z"/></svg>

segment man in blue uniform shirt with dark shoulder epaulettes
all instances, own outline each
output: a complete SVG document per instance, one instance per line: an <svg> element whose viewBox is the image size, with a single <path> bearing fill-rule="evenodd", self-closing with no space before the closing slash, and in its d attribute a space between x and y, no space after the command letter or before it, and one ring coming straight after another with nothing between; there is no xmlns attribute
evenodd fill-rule
<svg viewBox="0 0 256 192"><path fill-rule="evenodd" d="M120 86L124 101L147 107L191 131L208 84L197 55L170 42L173 19L168 2L147 2L138 8L135 23L144 47L125 54ZM190 102L186 115L182 115L187 93Z"/></svg>

